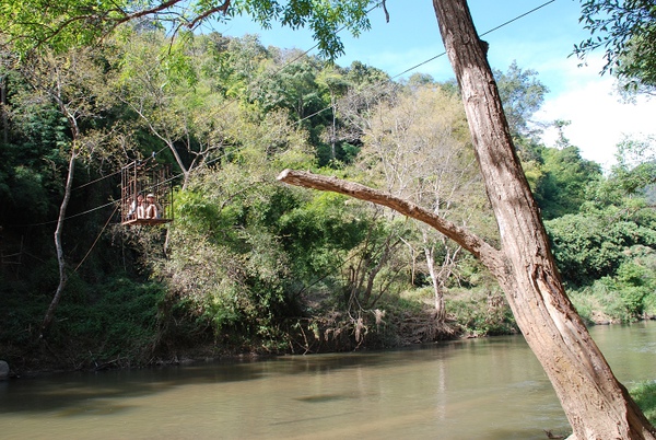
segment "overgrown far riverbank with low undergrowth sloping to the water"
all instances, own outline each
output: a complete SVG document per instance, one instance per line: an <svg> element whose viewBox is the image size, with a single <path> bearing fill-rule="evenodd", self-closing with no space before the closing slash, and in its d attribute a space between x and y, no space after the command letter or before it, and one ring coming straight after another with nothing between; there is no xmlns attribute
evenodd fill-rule
<svg viewBox="0 0 656 440"><path fill-rule="evenodd" d="M114 289L94 302L65 298L43 339L36 335L44 301L9 301L12 313L0 329L0 359L11 373L101 371L191 362L388 349L440 340L517 334L503 294L488 289L452 289L447 316L436 319L430 289L383 297L377 309L342 311L326 300L258 332L223 328L167 300L152 285L139 291ZM575 304L586 297L574 296ZM588 299L589 303L589 299ZM584 304L585 305L585 304ZM620 323L602 308L582 308L588 325ZM309 313L312 311L312 313ZM652 316L643 315L644 319ZM253 336L255 335L255 336Z"/></svg>

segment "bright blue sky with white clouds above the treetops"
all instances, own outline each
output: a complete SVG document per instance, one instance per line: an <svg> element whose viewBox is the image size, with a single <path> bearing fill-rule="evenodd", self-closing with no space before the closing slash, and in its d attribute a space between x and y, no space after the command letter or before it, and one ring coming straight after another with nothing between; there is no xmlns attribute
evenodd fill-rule
<svg viewBox="0 0 656 440"><path fill-rule="evenodd" d="M388 23L383 9L377 8L370 12L370 31L358 38L347 31L340 33L345 54L336 62L348 67L359 60L397 80L417 72L431 74L437 81L454 78L443 55L432 1L387 0L386 4ZM481 38L490 44L491 67L506 71L516 61L520 69L536 71L549 93L534 118L544 123L569 120L564 136L581 149L584 159L608 170L614 162L616 146L624 137L656 137L656 99L622 103L614 92L614 80L599 73L604 66L601 51L588 57L584 67L571 56L574 44L589 36L578 23L578 0L469 0L469 8ZM506 22L511 23L504 25ZM280 48L307 50L315 45L307 31L262 30L241 18L216 24L213 31L231 36L257 34L265 46ZM437 58L425 62L434 57ZM408 71L418 65L421 66ZM542 137L548 147L553 147L555 139L555 130L546 130Z"/></svg>

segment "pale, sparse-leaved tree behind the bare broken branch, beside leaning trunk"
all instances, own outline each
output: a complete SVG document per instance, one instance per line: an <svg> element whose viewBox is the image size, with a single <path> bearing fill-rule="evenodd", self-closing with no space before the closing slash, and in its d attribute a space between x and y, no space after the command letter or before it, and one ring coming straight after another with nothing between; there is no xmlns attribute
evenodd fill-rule
<svg viewBox="0 0 656 440"><path fill-rule="evenodd" d="M477 195L483 198L457 95L436 85L413 85L370 115L359 164L391 194L459 224L471 223ZM433 287L435 314L446 317L444 293L461 247L417 222L421 239L406 243L423 253Z"/></svg>

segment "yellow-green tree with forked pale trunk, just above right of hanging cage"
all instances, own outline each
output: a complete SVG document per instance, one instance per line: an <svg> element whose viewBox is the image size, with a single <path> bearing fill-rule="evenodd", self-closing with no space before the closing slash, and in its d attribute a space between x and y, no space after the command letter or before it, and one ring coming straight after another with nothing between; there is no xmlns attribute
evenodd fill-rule
<svg viewBox="0 0 656 440"><path fill-rule="evenodd" d="M153 146L152 153L167 150L174 158L183 188L195 169L234 143L229 127L237 118L236 105L229 105L198 68L204 59L194 51L196 38L186 37L172 42L160 31L133 32L114 60L113 81L116 96L138 116L136 125L164 144Z"/></svg>

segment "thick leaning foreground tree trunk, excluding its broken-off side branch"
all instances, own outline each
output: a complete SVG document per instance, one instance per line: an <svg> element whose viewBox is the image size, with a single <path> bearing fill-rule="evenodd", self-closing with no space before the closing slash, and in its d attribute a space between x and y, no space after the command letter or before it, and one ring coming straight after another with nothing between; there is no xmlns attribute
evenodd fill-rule
<svg viewBox="0 0 656 440"><path fill-rule="evenodd" d="M655 439L564 293L466 0L433 0L506 265L493 270L578 439ZM500 270L501 269L501 270Z"/></svg>

